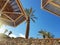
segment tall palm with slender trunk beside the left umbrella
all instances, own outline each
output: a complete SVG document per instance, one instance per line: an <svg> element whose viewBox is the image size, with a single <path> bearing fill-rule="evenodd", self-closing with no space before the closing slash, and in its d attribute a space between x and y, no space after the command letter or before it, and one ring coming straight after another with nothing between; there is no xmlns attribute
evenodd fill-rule
<svg viewBox="0 0 60 45"><path fill-rule="evenodd" d="M28 17L26 23L27 23L27 27L26 27L26 34L25 34L25 37L26 39L28 39L29 37L29 30L30 30L30 20L32 20L33 22L35 22L34 19L36 19L36 17L34 16L34 12L35 10L33 11L32 8L30 9L25 9L25 12L26 12L26 15Z"/></svg>

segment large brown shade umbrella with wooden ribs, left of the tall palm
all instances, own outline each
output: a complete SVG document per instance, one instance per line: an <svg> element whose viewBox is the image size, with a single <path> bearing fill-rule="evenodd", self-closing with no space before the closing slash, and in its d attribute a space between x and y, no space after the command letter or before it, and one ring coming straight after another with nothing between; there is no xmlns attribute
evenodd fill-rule
<svg viewBox="0 0 60 45"><path fill-rule="evenodd" d="M16 27L27 19L20 0L0 0L0 22Z"/></svg>

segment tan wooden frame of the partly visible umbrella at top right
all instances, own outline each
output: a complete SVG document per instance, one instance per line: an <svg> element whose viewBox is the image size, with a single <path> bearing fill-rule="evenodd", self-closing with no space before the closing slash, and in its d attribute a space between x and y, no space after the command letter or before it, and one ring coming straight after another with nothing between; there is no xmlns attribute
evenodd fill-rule
<svg viewBox="0 0 60 45"><path fill-rule="evenodd" d="M48 9L45 8L45 6L48 5L48 4L51 4L51 5L53 5L53 6L57 7L57 8L60 8L60 5L53 2L53 0L46 0L46 3L43 3L42 0L41 0L41 7L44 10L48 10ZM52 11L48 10L48 12L52 12ZM52 12L52 13L55 14L55 15L58 15L56 12ZM58 16L60 16L60 15L58 15Z"/></svg>

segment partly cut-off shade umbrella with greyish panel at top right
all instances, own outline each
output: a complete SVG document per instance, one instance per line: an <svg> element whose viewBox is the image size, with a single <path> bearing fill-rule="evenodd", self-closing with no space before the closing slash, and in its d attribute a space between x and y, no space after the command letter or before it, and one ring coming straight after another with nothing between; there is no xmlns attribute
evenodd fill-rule
<svg viewBox="0 0 60 45"><path fill-rule="evenodd" d="M42 0L42 8L60 16L60 0Z"/></svg>

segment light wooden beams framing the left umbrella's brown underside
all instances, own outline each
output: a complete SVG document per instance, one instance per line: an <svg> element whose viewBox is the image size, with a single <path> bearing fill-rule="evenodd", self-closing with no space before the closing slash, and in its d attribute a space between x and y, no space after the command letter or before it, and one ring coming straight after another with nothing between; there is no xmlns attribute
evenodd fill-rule
<svg viewBox="0 0 60 45"><path fill-rule="evenodd" d="M5 4L3 5L2 9L0 10L0 14L4 14L6 17L8 17L12 22L16 22L20 17L24 16L27 20L27 15L22 7L22 4L20 3L20 0L15 0L16 3L17 3L17 6L19 7L19 10L22 12L22 13L19 13L19 12L5 12L3 11L7 4L9 3L10 0L6 0ZM6 15L5 13L8 13L8 14L20 14L20 16L18 18L16 18L15 20L13 20L11 17L9 17L8 15Z"/></svg>

